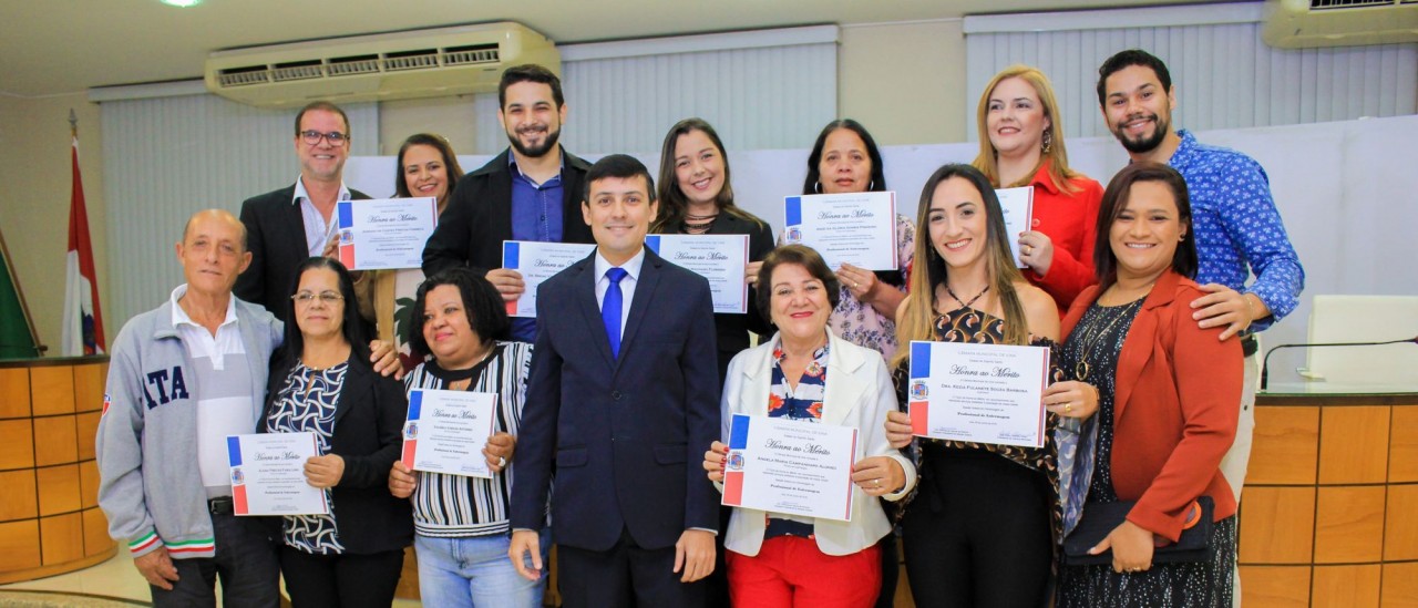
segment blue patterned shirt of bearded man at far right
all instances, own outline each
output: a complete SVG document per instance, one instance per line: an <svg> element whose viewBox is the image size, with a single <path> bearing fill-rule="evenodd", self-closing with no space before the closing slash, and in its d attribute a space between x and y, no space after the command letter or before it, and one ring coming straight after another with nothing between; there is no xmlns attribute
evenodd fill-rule
<svg viewBox="0 0 1418 608"><path fill-rule="evenodd" d="M1255 159L1229 147L1197 143L1185 129L1171 164L1187 180L1193 234L1201 266L1197 282L1251 292L1271 309L1249 332L1261 332L1295 310L1305 289L1305 269L1285 234L1271 181ZM1255 282L1246 288L1249 272Z"/></svg>

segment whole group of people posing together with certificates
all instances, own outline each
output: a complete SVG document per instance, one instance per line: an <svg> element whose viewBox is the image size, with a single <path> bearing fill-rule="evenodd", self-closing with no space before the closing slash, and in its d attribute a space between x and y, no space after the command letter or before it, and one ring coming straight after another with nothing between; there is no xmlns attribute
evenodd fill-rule
<svg viewBox="0 0 1418 608"><path fill-rule="evenodd" d="M352 133L311 103L296 183L240 220L194 214L187 282L115 340L111 534L155 605L213 605L220 578L227 605L275 607L282 575L296 607L389 605L413 544L427 605L533 607L553 541L569 607L889 607L898 556L923 607L1231 605L1254 334L1295 308L1303 271L1259 164L1174 129L1160 60L1113 55L1098 98L1132 157L1106 188L1069 169L1048 78L1000 72L978 157L896 218L893 271L776 241L735 204L705 120L669 129L658 181L630 156L567 153L560 81L520 65L499 85L506 152L464 174L435 135L398 150L397 196L440 210L423 268L352 272L333 254L336 203L366 197L342 180ZM834 120L803 194L885 191L883 169L862 125ZM1008 234L995 188L1020 186L1032 225ZM651 232L747 235L749 312L715 313ZM594 252L510 319L527 285L505 240ZM1044 445L915 437L913 340L1051 349ZM411 390L496 395L491 478L400 462ZM855 428L851 520L720 509L735 414ZM234 516L225 437L250 432L315 434L305 475L329 514ZM1201 502L1205 557L1160 558ZM1065 554L1105 503L1126 517L1086 553L1110 557Z"/></svg>

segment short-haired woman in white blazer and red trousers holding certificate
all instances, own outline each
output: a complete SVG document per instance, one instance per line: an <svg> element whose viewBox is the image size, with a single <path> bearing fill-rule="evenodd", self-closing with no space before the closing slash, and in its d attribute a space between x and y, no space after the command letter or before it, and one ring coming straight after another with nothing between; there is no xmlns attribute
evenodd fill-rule
<svg viewBox="0 0 1418 608"><path fill-rule="evenodd" d="M896 394L881 353L831 333L837 276L803 245L774 249L757 279L757 306L778 333L739 353L725 380L723 437L735 414L859 431L852 519L838 522L736 507L725 534L736 607L869 607L881 588L876 541L891 533L878 497L898 500L916 468L886 441ZM713 442L705 471L722 489L727 446Z"/></svg>

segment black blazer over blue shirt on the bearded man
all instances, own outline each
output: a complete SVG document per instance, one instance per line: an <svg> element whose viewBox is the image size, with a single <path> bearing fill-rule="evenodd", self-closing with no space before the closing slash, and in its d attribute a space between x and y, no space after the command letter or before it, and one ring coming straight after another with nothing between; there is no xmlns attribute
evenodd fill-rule
<svg viewBox="0 0 1418 608"><path fill-rule="evenodd" d="M478 276L502 268L502 241L512 240L510 150L462 176L424 245L424 276L468 266ZM562 242L596 242L581 220L586 171L591 166L562 149Z"/></svg>

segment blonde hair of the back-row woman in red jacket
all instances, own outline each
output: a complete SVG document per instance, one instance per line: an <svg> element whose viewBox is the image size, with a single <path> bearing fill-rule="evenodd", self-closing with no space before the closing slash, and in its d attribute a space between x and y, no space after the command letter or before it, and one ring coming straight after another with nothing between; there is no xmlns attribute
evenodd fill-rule
<svg viewBox="0 0 1418 608"><path fill-rule="evenodd" d="M980 132L980 156L976 156L971 164L980 173L984 173L991 184L1001 188L1028 186L1034 180L1034 174L1039 170L1039 167L1034 167L1028 177L1018 183L1000 183L1000 164L995 159L997 150L990 143L990 128L986 125L986 118L990 113L990 94L994 92L994 88L1000 82L1010 78L1020 78L1028 82L1029 86L1034 86L1034 94L1039 96L1039 105L1044 106L1044 116L1049 119L1049 126L1044 129L1044 140L1049 142L1049 146L1039 154L1039 164L1049 163L1049 180L1054 181L1055 188L1065 194L1076 193L1078 188L1069 183L1069 179L1078 176L1078 171L1068 166L1068 150L1064 147L1064 125L1058 112L1059 102L1054 98L1054 85L1049 84L1049 78L1044 72L1028 65L1015 64L1004 68L1004 71L990 79L990 84L984 88L984 94L980 95L980 108L976 109L976 125Z"/></svg>

